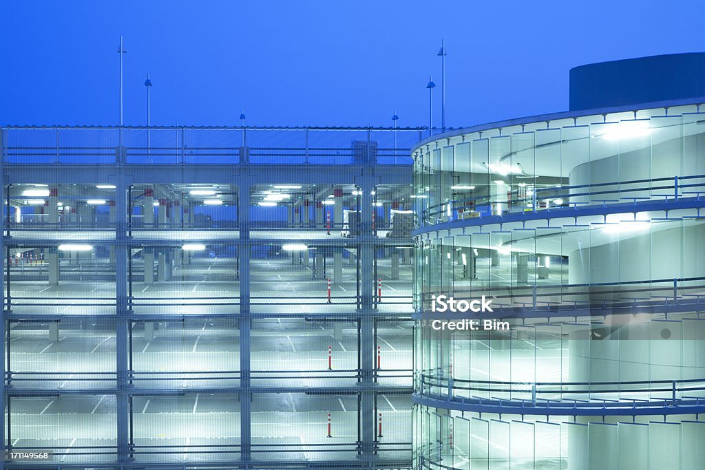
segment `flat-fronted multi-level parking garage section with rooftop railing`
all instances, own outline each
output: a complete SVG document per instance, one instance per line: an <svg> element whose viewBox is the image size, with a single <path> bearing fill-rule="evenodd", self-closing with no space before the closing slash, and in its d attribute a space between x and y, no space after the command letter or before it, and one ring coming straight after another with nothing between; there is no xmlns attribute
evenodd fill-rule
<svg viewBox="0 0 705 470"><path fill-rule="evenodd" d="M0 467L410 468L418 129L0 136Z"/></svg>

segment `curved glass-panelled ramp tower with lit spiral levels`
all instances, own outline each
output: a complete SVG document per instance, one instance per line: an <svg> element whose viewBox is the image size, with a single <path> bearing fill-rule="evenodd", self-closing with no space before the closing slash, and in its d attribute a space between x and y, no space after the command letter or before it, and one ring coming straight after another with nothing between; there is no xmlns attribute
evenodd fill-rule
<svg viewBox="0 0 705 470"><path fill-rule="evenodd" d="M502 124L412 151L417 468L701 468L705 106Z"/></svg>

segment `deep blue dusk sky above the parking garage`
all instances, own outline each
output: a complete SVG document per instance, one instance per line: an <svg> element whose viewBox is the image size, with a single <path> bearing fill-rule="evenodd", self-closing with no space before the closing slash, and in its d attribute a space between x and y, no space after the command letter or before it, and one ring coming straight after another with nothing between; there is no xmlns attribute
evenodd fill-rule
<svg viewBox="0 0 705 470"><path fill-rule="evenodd" d="M702 51L702 1L31 1L0 4L0 124L427 125L568 109L568 70ZM440 87L434 123L440 125Z"/></svg>

